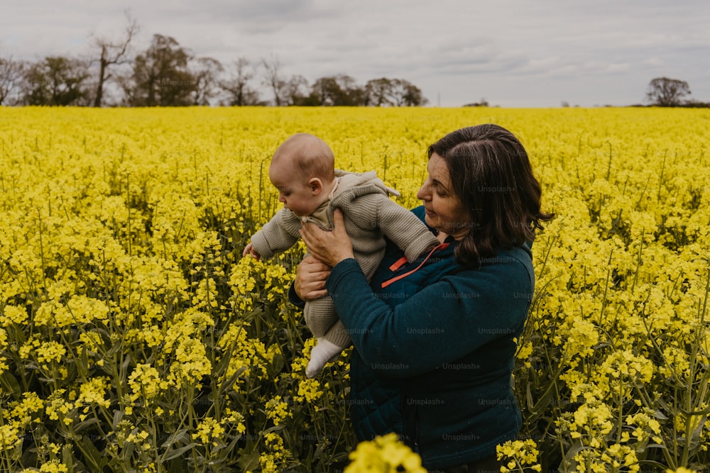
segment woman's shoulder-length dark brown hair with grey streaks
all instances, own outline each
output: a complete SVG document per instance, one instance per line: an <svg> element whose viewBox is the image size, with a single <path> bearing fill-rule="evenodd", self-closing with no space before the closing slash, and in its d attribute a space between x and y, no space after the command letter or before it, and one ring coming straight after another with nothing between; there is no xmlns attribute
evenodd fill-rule
<svg viewBox="0 0 710 473"><path fill-rule="evenodd" d="M513 133L491 123L453 131L429 147L449 168L452 190L471 216L455 250L461 265L481 265L498 250L522 245L554 217L540 211L540 183Z"/></svg>

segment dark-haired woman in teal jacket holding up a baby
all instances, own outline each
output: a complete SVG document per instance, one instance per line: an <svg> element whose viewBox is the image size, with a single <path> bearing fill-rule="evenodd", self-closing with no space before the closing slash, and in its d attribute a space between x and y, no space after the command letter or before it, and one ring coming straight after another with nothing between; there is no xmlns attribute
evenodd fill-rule
<svg viewBox="0 0 710 473"><path fill-rule="evenodd" d="M332 232L302 228L317 261L299 267L295 291L327 291L349 330L359 440L394 431L430 471L497 471L496 445L521 424L510 375L535 285L530 246L552 215L505 128L462 128L428 154L414 213L441 245L414 262L390 247L368 284L339 214Z"/></svg>

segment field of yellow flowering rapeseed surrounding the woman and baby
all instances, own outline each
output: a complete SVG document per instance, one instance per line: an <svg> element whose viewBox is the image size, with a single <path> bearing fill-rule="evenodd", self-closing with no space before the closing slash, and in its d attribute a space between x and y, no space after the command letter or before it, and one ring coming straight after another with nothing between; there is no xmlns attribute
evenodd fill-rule
<svg viewBox="0 0 710 473"><path fill-rule="evenodd" d="M0 471L420 471L396 439L356 445L347 352L305 377L303 247L241 252L289 135L412 207L427 146L486 122L557 215L506 469L710 469L710 111L0 108Z"/></svg>

